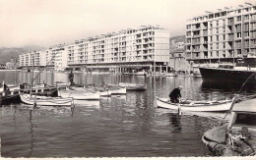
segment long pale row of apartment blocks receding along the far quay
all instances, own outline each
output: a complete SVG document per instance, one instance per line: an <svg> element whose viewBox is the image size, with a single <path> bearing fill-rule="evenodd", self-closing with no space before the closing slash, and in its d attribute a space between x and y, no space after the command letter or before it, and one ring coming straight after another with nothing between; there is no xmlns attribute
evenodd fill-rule
<svg viewBox="0 0 256 160"><path fill-rule="evenodd" d="M47 65L55 71L159 72L169 62L169 31L143 26L59 44L20 55L20 67L32 66L33 58L35 66Z"/></svg>

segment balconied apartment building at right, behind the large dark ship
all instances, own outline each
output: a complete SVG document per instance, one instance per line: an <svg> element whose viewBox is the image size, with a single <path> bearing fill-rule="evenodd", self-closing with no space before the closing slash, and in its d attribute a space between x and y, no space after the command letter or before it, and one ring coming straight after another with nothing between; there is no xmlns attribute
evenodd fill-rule
<svg viewBox="0 0 256 160"><path fill-rule="evenodd" d="M224 7L188 20L185 46L192 64L235 62L256 53L256 3Z"/></svg>

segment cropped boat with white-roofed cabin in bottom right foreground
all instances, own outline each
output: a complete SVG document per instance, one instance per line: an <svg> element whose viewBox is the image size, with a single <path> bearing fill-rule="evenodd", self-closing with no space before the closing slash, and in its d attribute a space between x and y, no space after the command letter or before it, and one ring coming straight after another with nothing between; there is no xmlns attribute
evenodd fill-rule
<svg viewBox="0 0 256 160"><path fill-rule="evenodd" d="M202 141L218 156L255 156L256 99L233 104L227 123L208 130Z"/></svg>

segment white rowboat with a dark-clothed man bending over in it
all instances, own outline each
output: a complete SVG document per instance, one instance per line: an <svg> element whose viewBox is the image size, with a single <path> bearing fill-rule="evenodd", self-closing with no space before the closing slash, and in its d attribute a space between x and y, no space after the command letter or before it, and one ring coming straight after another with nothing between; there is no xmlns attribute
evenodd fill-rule
<svg viewBox="0 0 256 160"><path fill-rule="evenodd" d="M231 107L231 100L220 101L183 101L178 103L171 103L167 98L158 98L157 104L161 108L178 110L179 105L182 111L191 112L224 112Z"/></svg>

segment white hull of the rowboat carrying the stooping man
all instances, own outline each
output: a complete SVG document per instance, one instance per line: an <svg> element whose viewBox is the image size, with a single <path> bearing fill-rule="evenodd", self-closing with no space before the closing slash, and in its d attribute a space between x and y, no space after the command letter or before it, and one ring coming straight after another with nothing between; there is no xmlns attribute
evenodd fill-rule
<svg viewBox="0 0 256 160"><path fill-rule="evenodd" d="M157 98L157 104L161 108L178 110L178 103L171 103L166 98ZM228 111L231 107L231 101L226 100L220 102L219 104L201 104L201 105L186 105L180 104L180 108L182 111L190 111L190 112L224 112Z"/></svg>

